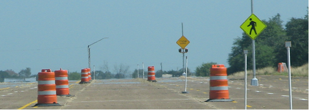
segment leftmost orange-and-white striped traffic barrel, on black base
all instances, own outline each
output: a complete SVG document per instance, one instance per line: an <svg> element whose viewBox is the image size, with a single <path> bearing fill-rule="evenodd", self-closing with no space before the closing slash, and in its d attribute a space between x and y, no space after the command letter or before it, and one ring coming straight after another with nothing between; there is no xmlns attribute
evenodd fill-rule
<svg viewBox="0 0 309 110"><path fill-rule="evenodd" d="M37 104L34 107L61 106L57 103L55 73L42 69L37 76Z"/></svg>

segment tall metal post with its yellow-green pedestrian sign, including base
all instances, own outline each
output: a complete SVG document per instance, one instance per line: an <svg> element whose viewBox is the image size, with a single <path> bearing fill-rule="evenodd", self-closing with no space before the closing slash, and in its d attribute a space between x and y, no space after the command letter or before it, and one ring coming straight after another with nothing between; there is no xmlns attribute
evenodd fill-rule
<svg viewBox="0 0 309 110"><path fill-rule="evenodd" d="M253 63L253 79L251 85L258 86L258 79L256 79L255 72L255 41L254 39L266 28L267 26L253 14L253 1L251 0L251 15L246 21L242 23L240 28L252 39L252 63Z"/></svg>

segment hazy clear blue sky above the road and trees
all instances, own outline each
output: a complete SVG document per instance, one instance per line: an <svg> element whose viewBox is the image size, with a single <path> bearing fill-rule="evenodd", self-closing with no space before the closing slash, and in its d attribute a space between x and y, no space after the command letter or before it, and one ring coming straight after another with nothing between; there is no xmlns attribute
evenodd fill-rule
<svg viewBox="0 0 309 110"><path fill-rule="evenodd" d="M240 25L251 15L251 0L0 0L0 70L30 67L80 72L103 61L159 70L182 68L176 41L190 41L188 68L203 62L229 67L227 58ZM308 0L253 0L254 14L269 20L277 13L286 24L308 14ZM257 37L258 39L258 37ZM283 47L284 48L284 47ZM250 56L249 56L250 57ZM252 57L252 56L251 56ZM258 62L258 61L256 61ZM277 62L274 62L277 63ZM131 73L130 72L130 73Z"/></svg>

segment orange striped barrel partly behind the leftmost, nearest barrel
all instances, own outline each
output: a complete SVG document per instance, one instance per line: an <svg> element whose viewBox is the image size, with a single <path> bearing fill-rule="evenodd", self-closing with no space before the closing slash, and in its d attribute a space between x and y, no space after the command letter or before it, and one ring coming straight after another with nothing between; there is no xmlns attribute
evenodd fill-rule
<svg viewBox="0 0 309 110"><path fill-rule="evenodd" d="M69 80L67 70L55 71L56 94L59 96L72 96L69 94Z"/></svg>

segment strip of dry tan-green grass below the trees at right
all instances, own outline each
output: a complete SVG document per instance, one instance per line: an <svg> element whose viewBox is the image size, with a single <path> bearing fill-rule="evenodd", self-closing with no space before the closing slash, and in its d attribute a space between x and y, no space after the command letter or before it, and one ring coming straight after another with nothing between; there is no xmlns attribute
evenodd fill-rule
<svg viewBox="0 0 309 110"><path fill-rule="evenodd" d="M294 77L308 77L309 74L309 65L304 64L300 67L291 67L291 76ZM247 70L247 75L253 75L252 70ZM288 72L277 72L277 68L274 67L266 67L262 69L256 70L256 75L283 75L288 76ZM233 76L244 76L244 71L234 73Z"/></svg>

